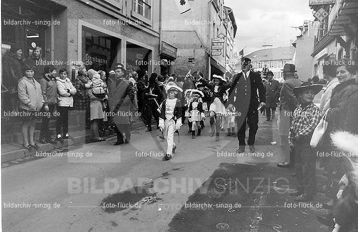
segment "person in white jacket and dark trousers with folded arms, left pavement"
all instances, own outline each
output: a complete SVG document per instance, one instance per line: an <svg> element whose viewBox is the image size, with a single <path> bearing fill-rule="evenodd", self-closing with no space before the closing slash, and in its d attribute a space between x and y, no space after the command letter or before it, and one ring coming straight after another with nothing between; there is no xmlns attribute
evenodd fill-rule
<svg viewBox="0 0 358 232"><path fill-rule="evenodd" d="M56 121L57 140L63 142L63 139L69 137L69 110L73 108L73 97L77 90L67 77L67 70L60 69L60 77L56 78L58 97L57 112L59 113ZM61 129L63 136L61 136Z"/></svg>

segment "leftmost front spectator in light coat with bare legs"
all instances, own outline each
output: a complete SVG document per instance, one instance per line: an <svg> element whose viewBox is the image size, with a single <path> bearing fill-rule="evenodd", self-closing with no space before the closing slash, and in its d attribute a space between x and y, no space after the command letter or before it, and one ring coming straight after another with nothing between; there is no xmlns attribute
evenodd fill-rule
<svg viewBox="0 0 358 232"><path fill-rule="evenodd" d="M38 149L40 147L34 143L34 133L36 114L38 114L43 105L41 85L34 79L35 67L25 64L23 72L25 76L17 84L17 93L20 100L19 111L24 119L21 127L23 148L28 150L32 148Z"/></svg>

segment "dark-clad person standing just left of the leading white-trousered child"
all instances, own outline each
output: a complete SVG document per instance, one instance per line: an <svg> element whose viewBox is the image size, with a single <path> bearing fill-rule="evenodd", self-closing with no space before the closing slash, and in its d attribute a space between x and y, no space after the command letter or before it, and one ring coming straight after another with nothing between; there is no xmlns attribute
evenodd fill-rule
<svg viewBox="0 0 358 232"><path fill-rule="evenodd" d="M164 100L163 92L158 84L158 74L152 73L149 78L148 88L145 90L145 117L147 130L152 131L151 118L154 117L156 127L159 129L159 111L158 105ZM155 102L156 101L156 102ZM158 105L157 105L158 104Z"/></svg>

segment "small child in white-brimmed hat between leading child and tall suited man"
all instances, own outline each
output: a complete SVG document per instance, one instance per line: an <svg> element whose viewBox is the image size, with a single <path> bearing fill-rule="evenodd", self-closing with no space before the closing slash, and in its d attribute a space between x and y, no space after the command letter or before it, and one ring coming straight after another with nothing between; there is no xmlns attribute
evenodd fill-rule
<svg viewBox="0 0 358 232"><path fill-rule="evenodd" d="M190 120L192 123L191 138L195 138L195 127L197 128L197 136L200 136L202 131L201 130L202 127L200 126L200 121L205 120L203 101L200 101L201 100L200 97L203 98L204 94L200 90L193 89L191 90L191 97L192 97L192 101L190 102L189 105L189 113L191 116Z"/></svg>

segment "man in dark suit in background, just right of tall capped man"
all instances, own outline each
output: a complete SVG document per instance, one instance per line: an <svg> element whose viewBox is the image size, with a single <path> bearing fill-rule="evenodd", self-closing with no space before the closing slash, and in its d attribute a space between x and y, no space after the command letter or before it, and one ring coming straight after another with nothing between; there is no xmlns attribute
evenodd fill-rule
<svg viewBox="0 0 358 232"><path fill-rule="evenodd" d="M277 107L277 96L280 95L280 83L274 79L274 73L269 71L267 72L267 81L265 82L266 89L266 121L271 120L271 111L272 119L275 119L275 111Z"/></svg>

